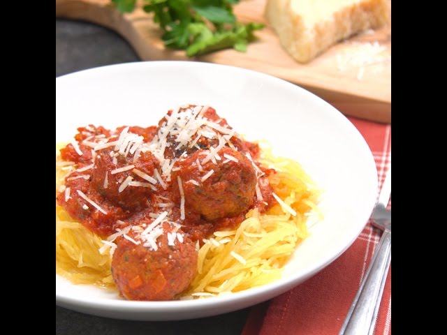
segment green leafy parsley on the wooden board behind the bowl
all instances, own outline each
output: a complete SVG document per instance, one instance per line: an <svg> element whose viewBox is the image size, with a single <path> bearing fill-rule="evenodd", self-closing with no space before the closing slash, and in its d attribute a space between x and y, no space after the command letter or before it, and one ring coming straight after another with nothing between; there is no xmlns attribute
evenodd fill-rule
<svg viewBox="0 0 447 335"><path fill-rule="evenodd" d="M136 0L112 0L122 13L131 13ZM233 5L239 0L145 0L143 9L154 13L166 47L186 50L193 57L234 47L244 52L253 31L264 24L237 22Z"/></svg>

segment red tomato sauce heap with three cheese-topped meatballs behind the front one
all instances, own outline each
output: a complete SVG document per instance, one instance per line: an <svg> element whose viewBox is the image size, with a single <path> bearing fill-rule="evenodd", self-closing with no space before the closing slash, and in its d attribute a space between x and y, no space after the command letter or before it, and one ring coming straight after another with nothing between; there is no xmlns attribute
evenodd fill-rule
<svg viewBox="0 0 447 335"><path fill-rule="evenodd" d="M177 123L193 119L194 107L177 110ZM249 209L257 207L263 212L276 203L267 179L274 170L260 168L258 144L242 140L226 119L207 107L197 122L198 129L187 130L195 131L194 135L187 138L186 134L186 144L181 145L184 129L167 128L173 114L170 110L158 126L147 128L78 128L75 142L61 149L61 158L77 168L65 179L69 194L59 193L57 203L102 237L169 211L170 219L200 243L216 230L236 228ZM119 140L122 143L117 143ZM163 145L160 158L157 149ZM218 150L210 158L214 148ZM162 165L172 165L169 174L163 174Z"/></svg>

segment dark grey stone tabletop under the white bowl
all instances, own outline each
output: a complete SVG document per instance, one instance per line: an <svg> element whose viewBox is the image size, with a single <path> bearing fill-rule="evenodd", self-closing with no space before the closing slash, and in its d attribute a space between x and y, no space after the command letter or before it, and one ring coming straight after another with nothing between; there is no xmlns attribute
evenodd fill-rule
<svg viewBox="0 0 447 335"><path fill-rule="evenodd" d="M114 31L86 22L56 20L56 77L78 70L139 61L129 43ZM100 318L56 306L56 334L240 334L249 308L202 318L137 322Z"/></svg>

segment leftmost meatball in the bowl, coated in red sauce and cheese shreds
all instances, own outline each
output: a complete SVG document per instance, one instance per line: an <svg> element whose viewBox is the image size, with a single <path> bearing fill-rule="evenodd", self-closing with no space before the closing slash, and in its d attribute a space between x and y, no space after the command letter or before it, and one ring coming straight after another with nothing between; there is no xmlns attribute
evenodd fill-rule
<svg viewBox="0 0 447 335"><path fill-rule="evenodd" d="M159 161L152 155L151 152L143 152L138 157L138 160L133 162L133 156L117 156L116 165L114 158L110 156L110 150L101 150L96 156L95 165L91 174L91 185L101 194L105 199L110 200L113 204L128 211L141 211L147 207L147 200L153 190L150 187L141 186L127 186L120 189L123 182L130 176L131 181L141 181L145 184L147 180L142 179L133 172L133 168L123 172L112 174L113 170L125 168L129 165L135 165L135 169L144 172L152 177L154 169L159 168ZM107 182L105 178L107 177ZM105 187L107 186L107 187ZM149 185L147 185L149 186Z"/></svg>

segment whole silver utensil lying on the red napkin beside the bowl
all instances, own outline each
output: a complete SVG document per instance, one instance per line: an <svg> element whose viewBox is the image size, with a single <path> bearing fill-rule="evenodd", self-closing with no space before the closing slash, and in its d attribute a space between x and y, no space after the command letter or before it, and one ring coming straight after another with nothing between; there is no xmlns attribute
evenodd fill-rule
<svg viewBox="0 0 447 335"><path fill-rule="evenodd" d="M385 181L383 181L379 200L371 215L372 224L383 230L383 234L339 335L372 335L374 333L383 287L391 261L391 210L386 209L390 195L391 164Z"/></svg>

